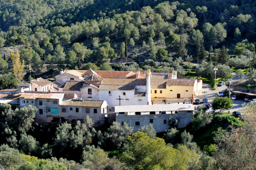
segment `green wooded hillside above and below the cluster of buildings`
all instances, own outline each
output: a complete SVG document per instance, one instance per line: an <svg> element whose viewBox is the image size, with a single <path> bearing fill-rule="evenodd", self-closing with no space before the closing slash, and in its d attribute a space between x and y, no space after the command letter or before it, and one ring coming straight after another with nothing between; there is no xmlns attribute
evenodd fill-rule
<svg viewBox="0 0 256 170"><path fill-rule="evenodd" d="M253 0L0 0L0 89L60 69L199 77L214 88L232 72L256 79ZM241 121L195 111L182 129L34 123L37 108L0 105L0 162L16 169L254 169L255 107ZM251 140L247 140L251 139ZM29 167L29 168L28 168Z"/></svg>

